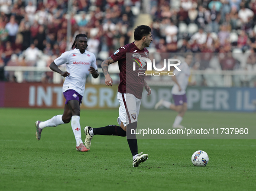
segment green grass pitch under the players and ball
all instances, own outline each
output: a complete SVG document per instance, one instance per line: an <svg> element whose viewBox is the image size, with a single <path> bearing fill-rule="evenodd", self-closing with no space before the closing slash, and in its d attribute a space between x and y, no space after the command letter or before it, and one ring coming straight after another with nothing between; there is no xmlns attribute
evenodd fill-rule
<svg viewBox="0 0 256 191"><path fill-rule="evenodd" d="M139 139L139 152L149 159L134 168L126 138L97 135L89 152L77 152L69 123L45 128L37 141L36 120L62 111L0 108L0 191L256 190L255 139ZM81 128L117 124L117 116L117 109L81 110ZM169 112L170 123L175 116ZM240 128L255 122L255 113L188 111L182 125ZM192 165L196 150L208 153L207 166Z"/></svg>

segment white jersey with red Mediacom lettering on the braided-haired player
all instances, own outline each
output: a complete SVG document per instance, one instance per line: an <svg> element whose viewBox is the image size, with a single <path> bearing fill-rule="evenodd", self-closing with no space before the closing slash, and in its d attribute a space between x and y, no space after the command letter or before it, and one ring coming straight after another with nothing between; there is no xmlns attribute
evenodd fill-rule
<svg viewBox="0 0 256 191"><path fill-rule="evenodd" d="M62 91L75 90L81 96L84 95L84 88L87 76L90 74L90 66L97 69L96 58L93 53L85 50L81 53L79 49L74 49L62 53L60 57L54 60L57 66L66 64L69 77L65 78Z"/></svg>

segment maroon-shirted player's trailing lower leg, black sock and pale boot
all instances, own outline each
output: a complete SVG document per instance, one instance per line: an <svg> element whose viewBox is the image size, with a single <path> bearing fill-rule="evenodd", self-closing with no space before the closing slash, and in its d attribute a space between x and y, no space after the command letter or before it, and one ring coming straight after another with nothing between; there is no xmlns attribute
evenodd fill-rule
<svg viewBox="0 0 256 191"><path fill-rule="evenodd" d="M120 126L117 125L107 125L105 127L92 128L86 126L84 128L85 133L85 147L89 149L91 147L91 139L94 135L115 135L120 137L126 137L126 131L123 130Z"/></svg>

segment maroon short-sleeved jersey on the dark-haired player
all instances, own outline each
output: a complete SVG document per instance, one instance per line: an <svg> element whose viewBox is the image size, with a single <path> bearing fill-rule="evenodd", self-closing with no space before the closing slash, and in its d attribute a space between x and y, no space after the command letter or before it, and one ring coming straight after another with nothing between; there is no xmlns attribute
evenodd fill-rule
<svg viewBox="0 0 256 191"><path fill-rule="evenodd" d="M129 53L127 54L127 58L126 53ZM146 48L139 50L133 42L120 47L110 56L113 61L118 61L120 70L120 84L118 86L118 91L120 93L133 94L136 98L141 99L145 74L138 75L138 73L146 73L146 65L139 65L136 63L136 70L133 71L133 62L134 60L138 60L138 57L148 57L148 53L149 51Z"/></svg>

